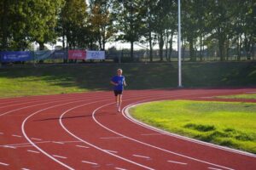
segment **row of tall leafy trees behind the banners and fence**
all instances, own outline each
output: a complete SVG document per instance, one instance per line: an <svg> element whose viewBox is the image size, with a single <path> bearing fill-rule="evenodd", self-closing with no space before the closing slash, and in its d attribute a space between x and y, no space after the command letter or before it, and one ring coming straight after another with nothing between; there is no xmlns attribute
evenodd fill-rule
<svg viewBox="0 0 256 170"><path fill-rule="evenodd" d="M1 0L0 50L62 42L63 48L105 50L107 42L146 44L160 60L171 59L177 37L177 0ZM182 44L191 60L203 51L221 60L236 50L250 59L255 51L255 0L182 0Z"/></svg>

